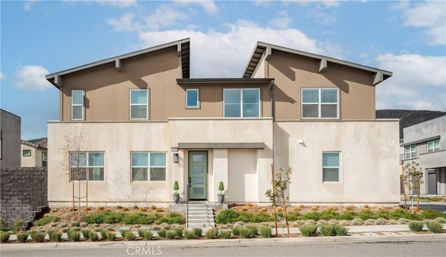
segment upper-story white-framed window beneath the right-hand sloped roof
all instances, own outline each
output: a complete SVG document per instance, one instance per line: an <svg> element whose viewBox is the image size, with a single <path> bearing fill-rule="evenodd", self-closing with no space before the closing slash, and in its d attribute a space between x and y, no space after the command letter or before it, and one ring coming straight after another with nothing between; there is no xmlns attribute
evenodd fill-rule
<svg viewBox="0 0 446 257"><path fill-rule="evenodd" d="M339 118L338 88L302 88L302 118Z"/></svg>

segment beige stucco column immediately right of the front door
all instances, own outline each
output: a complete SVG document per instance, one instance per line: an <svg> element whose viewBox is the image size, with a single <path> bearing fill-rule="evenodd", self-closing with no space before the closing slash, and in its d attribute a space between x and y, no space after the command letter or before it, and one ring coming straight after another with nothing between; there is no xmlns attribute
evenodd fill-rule
<svg viewBox="0 0 446 257"><path fill-rule="evenodd" d="M224 184L224 189L228 189L231 185L228 182L228 150L227 149L215 149L214 151L214 159L213 159L213 181L210 181L209 184L212 184L214 190L210 196L208 196L209 201L218 201L217 194L218 184L220 181ZM211 185L209 185L211 187ZM224 201L227 201L225 199Z"/></svg>

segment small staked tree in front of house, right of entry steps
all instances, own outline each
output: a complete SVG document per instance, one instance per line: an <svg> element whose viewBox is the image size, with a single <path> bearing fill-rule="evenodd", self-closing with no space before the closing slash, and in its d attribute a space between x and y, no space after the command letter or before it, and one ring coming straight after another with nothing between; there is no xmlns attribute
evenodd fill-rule
<svg viewBox="0 0 446 257"><path fill-rule="evenodd" d="M285 172L283 169L279 169L279 173L276 174L276 179L272 179L272 190L268 189L265 192L265 195L269 198L272 207L276 208L275 203L281 203L282 205L282 215L277 215L275 212L275 216L279 219L280 225L282 226L282 231L284 225L286 226L286 230L288 235L290 234L290 227L288 223L288 211L286 210L286 201L289 199L289 196L286 196L286 189L288 189L288 185L291 183L290 181L290 169L287 169ZM283 220L282 220L283 218Z"/></svg>

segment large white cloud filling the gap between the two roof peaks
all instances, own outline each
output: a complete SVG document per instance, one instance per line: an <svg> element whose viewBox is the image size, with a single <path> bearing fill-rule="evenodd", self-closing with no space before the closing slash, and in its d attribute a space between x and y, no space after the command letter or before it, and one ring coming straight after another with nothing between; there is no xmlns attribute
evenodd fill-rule
<svg viewBox="0 0 446 257"><path fill-rule="evenodd" d="M271 29L239 20L227 31L169 30L139 33L141 47L191 38L191 77L241 77L256 41L316 54L339 56L339 47L308 38L297 29ZM327 50L326 47L330 50Z"/></svg>

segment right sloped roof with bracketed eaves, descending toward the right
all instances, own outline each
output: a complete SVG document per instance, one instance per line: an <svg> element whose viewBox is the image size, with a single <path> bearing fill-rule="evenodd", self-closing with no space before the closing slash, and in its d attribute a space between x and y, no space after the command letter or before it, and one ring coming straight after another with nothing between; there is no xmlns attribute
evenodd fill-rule
<svg viewBox="0 0 446 257"><path fill-rule="evenodd" d="M266 59L272 54L272 49L287 52L290 54L295 54L298 56L305 56L312 59L319 60L319 72L322 72L325 70L325 68L328 68L330 63L336 63L339 65L344 65L347 67L364 70L366 72L371 72L374 75L374 82L373 85L376 86L380 82L384 81L385 79L388 79L389 77L392 77L392 72L387 70L380 70L376 68L371 68L369 66L360 65L357 63L351 63L349 61L343 61L339 59L334 59L332 57L323 56L319 54L312 54L309 52L302 52L299 50L287 48L287 47L280 47L278 45L272 45L268 44L266 42L257 42L256 47L254 47L254 51L251 54L251 57L249 58L249 61L246 65L246 68L243 72L243 77L252 77L254 74L254 71L256 70L257 66L259 65L261 59L263 58L263 55L266 55Z"/></svg>

